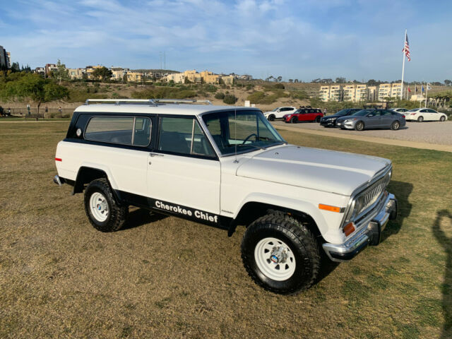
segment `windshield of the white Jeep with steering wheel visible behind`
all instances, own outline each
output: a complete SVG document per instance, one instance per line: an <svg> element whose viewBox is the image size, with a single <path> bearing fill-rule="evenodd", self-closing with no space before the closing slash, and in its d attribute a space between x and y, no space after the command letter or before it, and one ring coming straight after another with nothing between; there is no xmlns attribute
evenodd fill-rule
<svg viewBox="0 0 452 339"><path fill-rule="evenodd" d="M285 143L260 111L227 111L203 115L222 155L250 152Z"/></svg>

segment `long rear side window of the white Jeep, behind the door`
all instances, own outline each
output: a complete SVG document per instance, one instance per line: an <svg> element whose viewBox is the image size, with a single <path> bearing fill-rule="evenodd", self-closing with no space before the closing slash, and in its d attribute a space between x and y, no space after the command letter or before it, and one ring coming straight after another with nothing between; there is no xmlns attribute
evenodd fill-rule
<svg viewBox="0 0 452 339"><path fill-rule="evenodd" d="M102 143L147 146L151 121L145 117L93 117L85 130L85 139Z"/></svg>

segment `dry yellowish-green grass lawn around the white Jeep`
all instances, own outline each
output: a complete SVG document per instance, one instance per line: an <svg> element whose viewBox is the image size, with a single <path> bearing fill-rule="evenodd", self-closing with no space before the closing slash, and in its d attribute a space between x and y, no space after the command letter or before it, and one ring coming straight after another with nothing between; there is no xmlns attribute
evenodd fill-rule
<svg viewBox="0 0 452 339"><path fill-rule="evenodd" d="M452 153L280 131L393 160L383 242L295 296L257 287L227 232L133 209L91 227L57 187L69 121L0 122L0 338L452 338Z"/></svg>

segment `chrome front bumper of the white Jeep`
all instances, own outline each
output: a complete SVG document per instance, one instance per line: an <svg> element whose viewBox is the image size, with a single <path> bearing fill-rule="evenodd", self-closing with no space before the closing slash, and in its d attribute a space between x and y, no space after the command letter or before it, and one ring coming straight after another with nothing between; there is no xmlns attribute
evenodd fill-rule
<svg viewBox="0 0 452 339"><path fill-rule="evenodd" d="M381 232L386 227L388 220L397 217L397 199L393 194L388 194L379 211L372 218L367 227L359 227L356 233L343 244L323 244L323 250L332 261L347 261L354 258L368 245L376 246L380 243Z"/></svg>

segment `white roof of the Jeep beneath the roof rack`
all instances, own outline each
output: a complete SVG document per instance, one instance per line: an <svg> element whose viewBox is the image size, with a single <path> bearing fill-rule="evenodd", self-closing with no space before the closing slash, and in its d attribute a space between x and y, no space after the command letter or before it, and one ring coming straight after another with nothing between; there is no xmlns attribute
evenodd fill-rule
<svg viewBox="0 0 452 339"><path fill-rule="evenodd" d="M225 110L256 110L254 107L242 106L214 106L191 104L90 104L81 105L74 112L93 113L120 113L120 114L174 114L174 115L200 115L206 112L218 112Z"/></svg>

